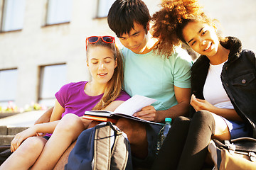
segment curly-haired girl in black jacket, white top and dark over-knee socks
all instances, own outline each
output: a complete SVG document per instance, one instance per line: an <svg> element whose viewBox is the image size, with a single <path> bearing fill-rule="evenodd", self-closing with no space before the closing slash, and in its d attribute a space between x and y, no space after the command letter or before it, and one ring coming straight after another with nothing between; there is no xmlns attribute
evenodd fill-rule
<svg viewBox="0 0 256 170"><path fill-rule="evenodd" d="M191 118L174 120L153 169L202 169L212 138L256 137L255 53L221 38L196 0L161 6L153 16L161 52L184 42L201 56L191 68Z"/></svg>

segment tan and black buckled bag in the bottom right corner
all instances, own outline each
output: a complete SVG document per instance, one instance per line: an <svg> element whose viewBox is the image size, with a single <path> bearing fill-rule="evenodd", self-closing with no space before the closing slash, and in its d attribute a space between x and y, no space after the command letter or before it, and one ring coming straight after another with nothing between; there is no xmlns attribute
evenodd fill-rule
<svg viewBox="0 0 256 170"><path fill-rule="evenodd" d="M215 169L256 169L256 140L240 137L234 140L211 140L208 146Z"/></svg>

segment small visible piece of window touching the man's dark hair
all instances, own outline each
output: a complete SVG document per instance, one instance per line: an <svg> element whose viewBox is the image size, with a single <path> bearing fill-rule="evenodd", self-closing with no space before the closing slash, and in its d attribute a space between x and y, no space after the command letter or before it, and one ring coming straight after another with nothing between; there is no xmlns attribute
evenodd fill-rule
<svg viewBox="0 0 256 170"><path fill-rule="evenodd" d="M97 18L107 17L110 7L115 0L98 0Z"/></svg>

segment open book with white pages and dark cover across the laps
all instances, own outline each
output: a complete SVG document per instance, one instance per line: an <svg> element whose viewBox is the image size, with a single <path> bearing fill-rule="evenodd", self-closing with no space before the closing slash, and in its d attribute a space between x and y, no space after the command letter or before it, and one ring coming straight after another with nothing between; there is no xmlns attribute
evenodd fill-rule
<svg viewBox="0 0 256 170"><path fill-rule="evenodd" d="M156 99L153 99L153 98L135 95L132 98L129 98L124 103L122 103L120 106L118 106L114 110L114 112L111 112L111 111L85 111L84 118L90 119L90 116L87 117L88 115L102 117L102 118L122 117L122 118L129 118L132 120L137 120L137 121L144 122L144 123L153 123L156 125L161 125L161 123L154 123L154 122L133 116L134 113L141 111L142 108L144 108L145 106L151 105L155 101L156 101Z"/></svg>

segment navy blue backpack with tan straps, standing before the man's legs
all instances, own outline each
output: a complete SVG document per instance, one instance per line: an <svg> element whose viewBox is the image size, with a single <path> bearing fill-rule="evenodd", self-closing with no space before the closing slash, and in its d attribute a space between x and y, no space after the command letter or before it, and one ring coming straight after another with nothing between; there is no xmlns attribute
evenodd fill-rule
<svg viewBox="0 0 256 170"><path fill-rule="evenodd" d="M71 169L132 169L127 135L110 122L84 130L65 165Z"/></svg>

